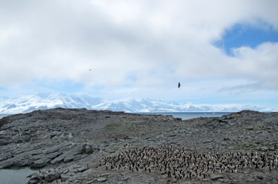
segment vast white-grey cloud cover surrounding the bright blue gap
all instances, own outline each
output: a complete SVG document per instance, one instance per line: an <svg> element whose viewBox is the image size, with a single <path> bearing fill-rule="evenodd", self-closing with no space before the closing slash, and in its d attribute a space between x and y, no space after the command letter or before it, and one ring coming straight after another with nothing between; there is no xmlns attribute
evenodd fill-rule
<svg viewBox="0 0 278 184"><path fill-rule="evenodd" d="M236 48L233 58L211 45L238 22L263 20L278 29L275 0L1 1L0 7L0 86L46 78L103 86L106 93L166 96L178 80L236 77L278 88L277 44ZM210 93L224 87L218 84Z"/></svg>

